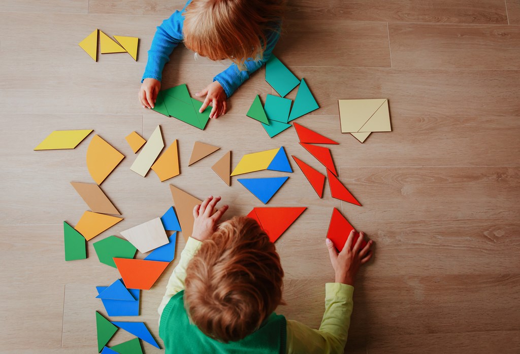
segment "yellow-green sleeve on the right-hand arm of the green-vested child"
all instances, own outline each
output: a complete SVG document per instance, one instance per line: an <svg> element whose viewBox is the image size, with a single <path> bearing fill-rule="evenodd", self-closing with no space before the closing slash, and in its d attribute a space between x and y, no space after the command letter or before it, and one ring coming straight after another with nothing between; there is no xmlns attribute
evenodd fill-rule
<svg viewBox="0 0 520 354"><path fill-rule="evenodd" d="M343 353L347 343L354 287L342 283L325 284L325 312L318 330L297 321L287 321L288 354Z"/></svg>

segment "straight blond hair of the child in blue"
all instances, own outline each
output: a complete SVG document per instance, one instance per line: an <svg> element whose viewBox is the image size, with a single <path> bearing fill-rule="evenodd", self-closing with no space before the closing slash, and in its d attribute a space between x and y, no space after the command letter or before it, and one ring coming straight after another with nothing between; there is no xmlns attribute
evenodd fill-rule
<svg viewBox="0 0 520 354"><path fill-rule="evenodd" d="M184 12L184 44L245 70L246 60L262 59L266 31L279 30L284 9L285 0L193 0Z"/></svg>

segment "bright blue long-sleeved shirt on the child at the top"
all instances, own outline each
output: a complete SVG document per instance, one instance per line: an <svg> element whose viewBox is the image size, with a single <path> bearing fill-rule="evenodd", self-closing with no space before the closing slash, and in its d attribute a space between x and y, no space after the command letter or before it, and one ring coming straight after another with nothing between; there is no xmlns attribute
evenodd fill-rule
<svg viewBox="0 0 520 354"><path fill-rule="evenodd" d="M150 77L161 81L164 65L170 61L170 55L173 49L184 39L183 13L190 2L191 0L186 3L182 10L175 11L170 18L164 20L163 23L158 26L157 32L155 32L155 36L152 40L152 45L148 51L148 62L146 64L145 73L142 75L142 80ZM238 66L233 63L226 70L213 78L213 81L218 81L224 88L227 97L230 97L253 72L258 70L259 67L269 60L272 50L280 38L280 33L279 31L269 31L266 33L266 38L267 43L262 59L250 59L246 61L245 67L247 69L244 71L240 71Z"/></svg>

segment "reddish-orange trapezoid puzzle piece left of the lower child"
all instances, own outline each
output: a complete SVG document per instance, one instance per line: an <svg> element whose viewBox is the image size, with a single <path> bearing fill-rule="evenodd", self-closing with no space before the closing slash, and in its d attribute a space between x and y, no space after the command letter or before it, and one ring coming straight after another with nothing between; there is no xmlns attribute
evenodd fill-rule
<svg viewBox="0 0 520 354"><path fill-rule="evenodd" d="M114 258L119 274L128 289L150 290L170 262Z"/></svg>

